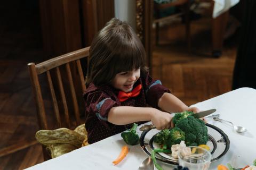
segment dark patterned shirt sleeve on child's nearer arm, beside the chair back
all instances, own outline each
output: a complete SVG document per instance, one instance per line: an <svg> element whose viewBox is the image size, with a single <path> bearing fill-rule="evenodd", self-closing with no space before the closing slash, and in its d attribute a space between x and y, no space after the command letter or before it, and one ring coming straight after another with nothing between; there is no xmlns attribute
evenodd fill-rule
<svg viewBox="0 0 256 170"><path fill-rule="evenodd" d="M108 126L108 113L112 107L118 106L117 102L103 91L95 91L87 95L86 111L95 114L99 121Z"/></svg>

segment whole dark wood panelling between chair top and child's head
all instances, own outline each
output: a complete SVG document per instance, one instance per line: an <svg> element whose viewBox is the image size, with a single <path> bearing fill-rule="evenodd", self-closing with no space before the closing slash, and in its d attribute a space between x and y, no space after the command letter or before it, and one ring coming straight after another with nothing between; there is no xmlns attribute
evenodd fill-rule
<svg viewBox="0 0 256 170"><path fill-rule="evenodd" d="M114 0L40 0L47 56L90 46L94 35L115 16Z"/></svg>

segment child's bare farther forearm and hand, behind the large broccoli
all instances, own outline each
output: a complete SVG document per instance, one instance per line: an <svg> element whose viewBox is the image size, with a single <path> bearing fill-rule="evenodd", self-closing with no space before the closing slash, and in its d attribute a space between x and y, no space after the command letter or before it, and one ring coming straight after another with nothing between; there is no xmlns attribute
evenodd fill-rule
<svg viewBox="0 0 256 170"><path fill-rule="evenodd" d="M169 113L192 111L199 112L196 107L188 107L180 99L172 94L165 92L161 98L158 100L158 107Z"/></svg>

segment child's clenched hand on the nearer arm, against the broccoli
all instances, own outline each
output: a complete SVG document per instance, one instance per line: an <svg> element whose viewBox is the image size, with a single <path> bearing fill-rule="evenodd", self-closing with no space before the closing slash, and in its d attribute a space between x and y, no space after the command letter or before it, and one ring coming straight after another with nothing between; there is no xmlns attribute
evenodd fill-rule
<svg viewBox="0 0 256 170"><path fill-rule="evenodd" d="M156 126L157 130L170 129L173 127L172 115L167 112L159 111L155 109L151 114L151 122Z"/></svg>

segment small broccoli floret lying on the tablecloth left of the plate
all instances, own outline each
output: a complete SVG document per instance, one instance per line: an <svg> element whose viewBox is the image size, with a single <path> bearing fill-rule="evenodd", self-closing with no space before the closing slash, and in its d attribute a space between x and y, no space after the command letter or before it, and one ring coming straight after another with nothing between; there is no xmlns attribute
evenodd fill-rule
<svg viewBox="0 0 256 170"><path fill-rule="evenodd" d="M137 145L139 142L139 135L136 133L138 124L133 123L132 128L128 132L122 132L121 137L128 145Z"/></svg>

